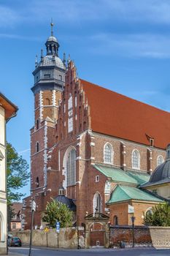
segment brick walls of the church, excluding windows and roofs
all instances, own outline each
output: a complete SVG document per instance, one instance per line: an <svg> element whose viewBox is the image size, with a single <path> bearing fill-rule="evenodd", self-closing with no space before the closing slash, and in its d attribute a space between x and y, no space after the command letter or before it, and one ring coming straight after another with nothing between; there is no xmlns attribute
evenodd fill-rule
<svg viewBox="0 0 170 256"><path fill-rule="evenodd" d="M54 94L55 106L48 105L48 103L52 104ZM68 100L71 96L72 113L69 113ZM60 99L62 99L61 104ZM41 111L39 107L41 107ZM72 115L73 118L72 132L68 132L69 115ZM53 118L53 120L58 117L58 121L57 123L47 121L47 146L45 148L44 126L47 116ZM158 155L162 155L165 159L166 153L161 149L101 135L90 130L90 106L80 81L76 78L76 68L72 62L69 64L69 71L66 74L66 86L62 95L58 91L55 91L55 93L54 91L43 91L35 95L35 123L37 118L39 120L42 118L40 124L42 128L36 130L36 127L33 127L31 129L31 189L35 189L32 196L35 197L38 205L38 210L35 214L37 225L41 224L40 219L43 211L45 211L47 200L58 195L58 187L66 179L63 173L63 159L69 147L76 148L77 151L77 183L66 188L66 196L76 200L80 225L84 223L85 212L88 211L89 214L93 212L93 196L96 192L101 195L102 212L106 214L105 208L107 206L105 203L109 199L109 195L104 195L104 186L107 177L99 173L92 165L94 163L104 163L105 143L110 143L114 151L112 166L126 168L127 171L132 167L131 154L135 148L140 153L140 169L145 172L149 173L150 169L153 170L156 167ZM46 153L42 151L36 154L36 141L39 141L40 149L45 148L47 150ZM152 154L148 154L148 148L152 151ZM36 177L39 176L39 187L43 187L45 185L45 167L47 167L47 186L39 189L36 187ZM99 182L95 180L96 175L99 176ZM114 187L115 184L112 184L111 192ZM128 225L127 207L127 203L121 207L112 206L114 209L111 211L110 221L113 221L114 214L117 213L120 223ZM139 225L142 225L142 220L140 219L142 217L142 207L144 207L143 204L135 206L136 215L139 216L136 217L136 223Z"/></svg>

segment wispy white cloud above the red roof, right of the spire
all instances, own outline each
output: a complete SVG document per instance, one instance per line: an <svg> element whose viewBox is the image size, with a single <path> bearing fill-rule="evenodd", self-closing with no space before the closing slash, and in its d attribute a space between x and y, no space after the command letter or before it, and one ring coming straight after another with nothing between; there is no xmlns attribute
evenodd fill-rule
<svg viewBox="0 0 170 256"><path fill-rule="evenodd" d="M90 53L152 59L170 58L170 36L161 34L96 34ZM103 49L103 50L102 50ZM104 50L107 49L107 50Z"/></svg>

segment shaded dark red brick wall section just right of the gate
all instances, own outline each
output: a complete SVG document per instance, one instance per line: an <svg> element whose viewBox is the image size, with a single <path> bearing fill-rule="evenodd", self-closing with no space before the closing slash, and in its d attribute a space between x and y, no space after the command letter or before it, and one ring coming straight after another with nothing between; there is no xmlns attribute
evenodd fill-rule
<svg viewBox="0 0 170 256"><path fill-rule="evenodd" d="M111 246L120 246L120 242L125 245L132 244L132 227L131 226L111 226L110 227L110 244ZM144 226L136 226L134 228L134 241L137 245L151 246L152 239L150 236L150 228Z"/></svg>

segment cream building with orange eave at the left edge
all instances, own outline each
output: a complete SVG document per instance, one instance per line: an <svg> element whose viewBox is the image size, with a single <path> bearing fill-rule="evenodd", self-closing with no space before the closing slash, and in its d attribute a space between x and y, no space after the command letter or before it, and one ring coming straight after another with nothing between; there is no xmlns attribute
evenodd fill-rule
<svg viewBox="0 0 170 256"><path fill-rule="evenodd" d="M18 108L0 93L0 255L7 254L6 124Z"/></svg>

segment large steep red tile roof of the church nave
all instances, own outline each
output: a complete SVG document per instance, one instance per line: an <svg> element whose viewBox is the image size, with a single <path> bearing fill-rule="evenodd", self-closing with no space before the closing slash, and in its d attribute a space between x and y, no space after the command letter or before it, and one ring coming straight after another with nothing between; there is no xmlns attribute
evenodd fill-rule
<svg viewBox="0 0 170 256"><path fill-rule="evenodd" d="M170 113L80 80L90 105L94 132L136 143L166 148L170 143Z"/></svg>

